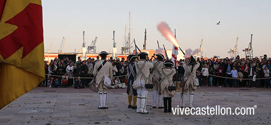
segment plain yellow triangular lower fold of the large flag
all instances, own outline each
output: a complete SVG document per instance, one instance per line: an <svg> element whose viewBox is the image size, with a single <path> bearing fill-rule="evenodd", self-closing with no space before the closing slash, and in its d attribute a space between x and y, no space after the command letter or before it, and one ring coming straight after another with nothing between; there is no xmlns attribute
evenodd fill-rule
<svg viewBox="0 0 271 125"><path fill-rule="evenodd" d="M37 83L44 79L11 64L1 63L0 65L0 109L37 87Z"/></svg>

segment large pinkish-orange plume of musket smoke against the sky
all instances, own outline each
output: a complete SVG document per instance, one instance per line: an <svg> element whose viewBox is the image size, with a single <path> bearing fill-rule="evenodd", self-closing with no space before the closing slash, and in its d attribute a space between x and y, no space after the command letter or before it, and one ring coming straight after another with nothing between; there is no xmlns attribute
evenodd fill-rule
<svg viewBox="0 0 271 125"><path fill-rule="evenodd" d="M173 43L175 46L180 47L177 39L174 37L169 24L167 22L160 22L157 25L157 29L160 31L160 33L165 36L171 43Z"/></svg>

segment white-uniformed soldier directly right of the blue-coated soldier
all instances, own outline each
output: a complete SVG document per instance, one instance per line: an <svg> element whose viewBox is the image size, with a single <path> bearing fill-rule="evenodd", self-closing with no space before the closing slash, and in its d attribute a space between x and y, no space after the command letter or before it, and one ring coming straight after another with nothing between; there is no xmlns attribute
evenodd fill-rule
<svg viewBox="0 0 271 125"><path fill-rule="evenodd" d="M140 60L135 62L135 67L137 70L137 79L141 78L141 86L137 89L138 98L137 98L137 113L149 113L146 109L147 105L147 94L148 89L146 88L146 84L151 82L150 76L150 68L153 68L154 65L149 60L146 60L148 53L147 52L140 52L138 56ZM143 67L144 66L144 67ZM141 73L142 72L142 73ZM142 74L139 75L138 74Z"/></svg>

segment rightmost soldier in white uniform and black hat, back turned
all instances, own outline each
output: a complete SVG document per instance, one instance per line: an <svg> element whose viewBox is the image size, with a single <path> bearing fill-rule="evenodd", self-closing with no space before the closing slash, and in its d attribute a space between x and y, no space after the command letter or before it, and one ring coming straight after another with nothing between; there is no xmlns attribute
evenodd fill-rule
<svg viewBox="0 0 271 125"><path fill-rule="evenodd" d="M190 56L187 63L183 65L185 69L184 73L184 81L185 85L182 90L182 96L181 96L181 107L185 106L185 96L189 92L189 107L192 108L193 98L194 98L194 90L197 89L197 86L199 85L199 80L196 76L196 70L200 66L200 63L197 62L193 56Z"/></svg>

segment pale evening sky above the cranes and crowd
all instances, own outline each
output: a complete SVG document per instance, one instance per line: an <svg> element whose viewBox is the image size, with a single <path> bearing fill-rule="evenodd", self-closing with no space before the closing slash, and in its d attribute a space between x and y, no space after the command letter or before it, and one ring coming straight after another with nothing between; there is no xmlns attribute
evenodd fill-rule
<svg viewBox="0 0 271 125"><path fill-rule="evenodd" d="M204 56L229 56L239 37L238 51L248 47L253 34L253 55L271 56L271 0L42 0L44 49L52 52L66 37L64 52L81 50L83 31L86 45L97 36L97 51L110 51L113 30L117 53L123 46L125 24L131 12L131 39L143 49L147 29L147 49L156 49L157 40L172 49L173 44L157 30L165 21L182 49L199 48L203 38ZM220 25L216 25L218 21Z"/></svg>

